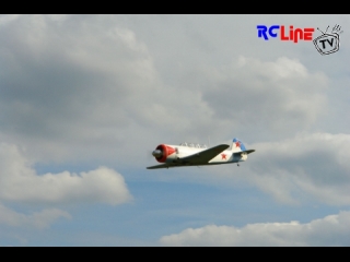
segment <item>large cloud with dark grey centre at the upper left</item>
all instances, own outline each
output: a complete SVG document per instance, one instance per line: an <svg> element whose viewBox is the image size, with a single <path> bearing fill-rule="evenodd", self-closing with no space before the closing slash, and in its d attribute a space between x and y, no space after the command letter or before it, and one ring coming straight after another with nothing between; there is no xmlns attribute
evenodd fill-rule
<svg viewBox="0 0 350 262"><path fill-rule="evenodd" d="M160 85L147 46L110 19L22 15L0 27L3 141L58 160L125 144Z"/></svg>

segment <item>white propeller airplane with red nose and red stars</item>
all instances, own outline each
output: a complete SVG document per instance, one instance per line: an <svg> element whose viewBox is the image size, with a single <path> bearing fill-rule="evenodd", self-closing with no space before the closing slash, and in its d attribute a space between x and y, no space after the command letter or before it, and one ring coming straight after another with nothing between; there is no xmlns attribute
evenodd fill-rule
<svg viewBox="0 0 350 262"><path fill-rule="evenodd" d="M229 148L231 147L231 148ZM152 152L159 163L147 169L170 168L182 166L207 166L245 162L255 150L246 150L242 141L234 138L230 144L219 144L208 148L207 145L182 143L179 145L160 144Z"/></svg>

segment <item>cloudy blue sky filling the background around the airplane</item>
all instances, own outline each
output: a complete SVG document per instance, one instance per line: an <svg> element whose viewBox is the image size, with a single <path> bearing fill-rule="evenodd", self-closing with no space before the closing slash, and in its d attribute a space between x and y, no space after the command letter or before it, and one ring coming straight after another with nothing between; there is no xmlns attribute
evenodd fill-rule
<svg viewBox="0 0 350 262"><path fill-rule="evenodd" d="M257 32L336 24L326 56ZM0 15L0 246L350 246L349 24ZM145 169L233 138L240 167Z"/></svg>

